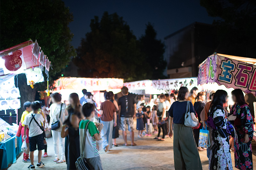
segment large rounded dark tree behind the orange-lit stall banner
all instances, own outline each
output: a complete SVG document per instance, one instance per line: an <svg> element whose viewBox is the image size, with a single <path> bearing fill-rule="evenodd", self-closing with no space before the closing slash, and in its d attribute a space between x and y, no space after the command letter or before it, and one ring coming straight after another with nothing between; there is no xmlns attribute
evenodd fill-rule
<svg viewBox="0 0 256 170"><path fill-rule="evenodd" d="M114 77L125 81L147 76L147 63L130 27L116 13L104 12L91 20L91 32L82 39L74 63L82 77ZM145 64L146 63L146 64Z"/></svg>

